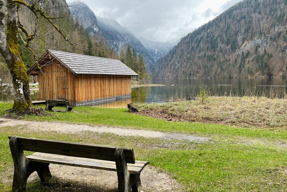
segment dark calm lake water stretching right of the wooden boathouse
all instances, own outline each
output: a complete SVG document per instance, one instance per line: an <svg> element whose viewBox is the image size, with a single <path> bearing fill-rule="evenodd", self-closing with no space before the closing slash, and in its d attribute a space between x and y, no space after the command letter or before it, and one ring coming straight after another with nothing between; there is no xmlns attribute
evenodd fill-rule
<svg viewBox="0 0 287 192"><path fill-rule="evenodd" d="M162 87L132 89L133 103L194 99L201 89L209 96L266 96L286 98L287 79L172 79L155 80Z"/></svg>

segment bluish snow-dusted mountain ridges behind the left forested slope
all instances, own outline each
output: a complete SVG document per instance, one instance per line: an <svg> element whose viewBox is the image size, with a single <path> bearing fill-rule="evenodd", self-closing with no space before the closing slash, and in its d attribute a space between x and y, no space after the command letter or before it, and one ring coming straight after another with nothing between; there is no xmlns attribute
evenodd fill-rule
<svg viewBox="0 0 287 192"><path fill-rule="evenodd" d="M137 38L128 28L116 20L96 16L90 7L79 0L69 3L73 17L82 24L90 35L100 35L119 53L123 46L130 45L142 54L146 68L151 71L154 63L164 56L175 43L160 43Z"/></svg>

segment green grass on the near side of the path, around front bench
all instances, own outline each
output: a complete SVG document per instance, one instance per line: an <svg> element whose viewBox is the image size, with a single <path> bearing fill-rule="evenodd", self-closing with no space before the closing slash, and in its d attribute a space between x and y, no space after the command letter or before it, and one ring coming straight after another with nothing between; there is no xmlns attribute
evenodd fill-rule
<svg viewBox="0 0 287 192"><path fill-rule="evenodd" d="M132 147L135 150L136 159L148 160L152 166L167 172L186 187L186 192L280 192L287 189L286 148L228 143L195 144L186 141L123 137L91 132L78 135L39 133L31 132L26 127L0 129L0 178L7 177L7 170L12 171L13 164L7 139L11 134ZM166 149L166 145L169 145L169 149ZM11 172L8 174L10 181L11 174ZM83 187L76 182L72 185L75 189L61 188L67 183L67 181L53 180L51 186L56 187L47 188L36 181L28 185L28 192L52 192L53 190L77 192L78 189L75 186ZM1 192L10 190L10 184L0 182L0 187L2 187Z"/></svg>

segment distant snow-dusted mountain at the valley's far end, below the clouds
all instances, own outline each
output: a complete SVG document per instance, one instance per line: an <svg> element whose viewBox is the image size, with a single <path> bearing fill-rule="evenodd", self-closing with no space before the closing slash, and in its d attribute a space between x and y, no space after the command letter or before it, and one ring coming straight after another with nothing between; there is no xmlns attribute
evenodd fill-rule
<svg viewBox="0 0 287 192"><path fill-rule="evenodd" d="M149 51L149 54L153 57L155 61L159 60L161 57L165 56L172 47L176 45L176 42L155 42L139 37L143 46Z"/></svg>

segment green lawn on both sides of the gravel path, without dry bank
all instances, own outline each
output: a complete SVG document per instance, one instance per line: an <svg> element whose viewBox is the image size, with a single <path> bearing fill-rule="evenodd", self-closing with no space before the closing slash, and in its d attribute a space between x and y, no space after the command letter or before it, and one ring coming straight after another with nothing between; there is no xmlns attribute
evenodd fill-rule
<svg viewBox="0 0 287 192"><path fill-rule="evenodd" d="M0 116L11 106L10 103L0 103ZM284 192L287 189L287 148L277 145L287 143L285 129L170 122L131 114L127 109L94 107L76 107L73 112L50 112L49 116L24 116L22 119L193 134L208 136L212 143L195 144L92 132L70 135L39 133L31 132L27 127L5 127L0 129L0 178L6 177L8 181L11 181L13 163L7 136L22 135L134 148L138 160L150 161L152 166L182 183L187 192ZM73 184L75 188L61 188L65 184L65 181L53 180L51 186L54 187L46 188L35 182L28 185L28 191L77 192L84 189L79 183ZM0 189L2 192L10 191L10 184L0 182ZM88 192L89 188L85 190Z"/></svg>

